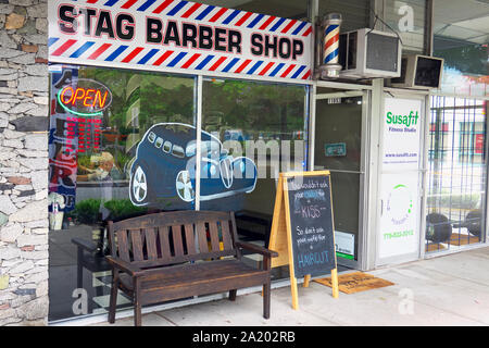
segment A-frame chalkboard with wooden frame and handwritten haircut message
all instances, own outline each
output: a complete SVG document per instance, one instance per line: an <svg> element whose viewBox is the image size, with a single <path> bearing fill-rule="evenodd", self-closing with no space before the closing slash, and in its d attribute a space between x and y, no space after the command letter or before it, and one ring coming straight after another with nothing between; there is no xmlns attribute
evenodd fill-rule
<svg viewBox="0 0 489 348"><path fill-rule="evenodd" d="M268 248L272 268L289 265L292 308L299 308L297 278L330 272L338 298L338 272L329 171L280 173Z"/></svg>

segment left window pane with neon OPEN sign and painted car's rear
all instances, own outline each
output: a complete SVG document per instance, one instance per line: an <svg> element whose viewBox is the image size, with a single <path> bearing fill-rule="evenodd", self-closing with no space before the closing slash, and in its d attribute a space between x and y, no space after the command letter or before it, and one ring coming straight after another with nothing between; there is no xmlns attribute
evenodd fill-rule
<svg viewBox="0 0 489 348"><path fill-rule="evenodd" d="M106 312L108 220L195 209L195 176L187 196L178 191L184 148L196 139L195 78L66 65L50 65L50 78L49 320L55 321ZM172 142L175 156L161 149L170 152ZM77 308L76 299L87 306ZM130 303L117 297L117 308Z"/></svg>

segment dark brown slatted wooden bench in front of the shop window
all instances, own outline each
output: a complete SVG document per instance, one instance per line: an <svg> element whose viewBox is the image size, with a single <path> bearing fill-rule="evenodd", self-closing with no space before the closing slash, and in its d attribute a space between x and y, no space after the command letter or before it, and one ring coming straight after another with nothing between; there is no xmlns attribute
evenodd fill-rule
<svg viewBox="0 0 489 348"><path fill-rule="evenodd" d="M263 286L263 316L269 318L271 258L278 253L238 240L233 212L178 211L109 222L113 282L109 322L115 322L117 289L141 307L179 298ZM262 268L241 260L242 250L263 254Z"/></svg>

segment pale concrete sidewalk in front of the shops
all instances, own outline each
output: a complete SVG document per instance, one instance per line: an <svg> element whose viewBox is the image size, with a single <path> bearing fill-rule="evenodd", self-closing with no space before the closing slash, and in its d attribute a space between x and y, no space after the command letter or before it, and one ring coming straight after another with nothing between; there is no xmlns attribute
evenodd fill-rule
<svg viewBox="0 0 489 348"><path fill-rule="evenodd" d="M347 272L348 273L348 272ZM489 248L367 272L396 285L331 297L315 282L299 286L299 310L290 287L272 290L271 319L262 316L260 293L145 314L146 326L335 326L489 324ZM133 318L114 325L133 326ZM106 322L96 326L109 325Z"/></svg>

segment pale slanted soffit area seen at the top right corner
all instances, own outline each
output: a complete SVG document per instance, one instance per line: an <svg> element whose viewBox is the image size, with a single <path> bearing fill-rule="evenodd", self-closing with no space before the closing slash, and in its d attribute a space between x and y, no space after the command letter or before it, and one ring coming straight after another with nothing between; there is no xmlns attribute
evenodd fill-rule
<svg viewBox="0 0 489 348"><path fill-rule="evenodd" d="M435 0L434 34L474 44L489 41L489 1Z"/></svg>

